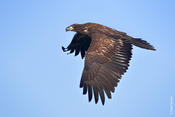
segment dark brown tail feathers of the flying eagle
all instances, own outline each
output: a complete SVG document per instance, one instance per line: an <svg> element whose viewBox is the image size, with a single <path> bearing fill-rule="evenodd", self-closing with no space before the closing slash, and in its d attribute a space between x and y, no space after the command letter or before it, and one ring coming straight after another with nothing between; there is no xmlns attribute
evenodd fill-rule
<svg viewBox="0 0 175 117"><path fill-rule="evenodd" d="M132 38L130 42L138 47L148 49L148 50L156 50L150 43L148 43L145 40L142 40L141 38Z"/></svg>

